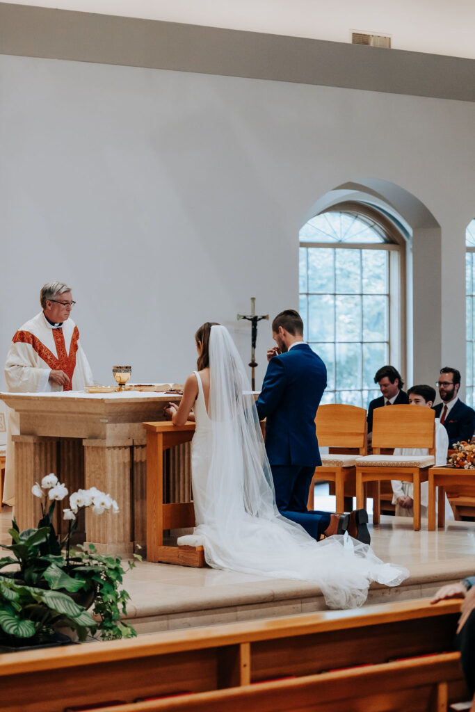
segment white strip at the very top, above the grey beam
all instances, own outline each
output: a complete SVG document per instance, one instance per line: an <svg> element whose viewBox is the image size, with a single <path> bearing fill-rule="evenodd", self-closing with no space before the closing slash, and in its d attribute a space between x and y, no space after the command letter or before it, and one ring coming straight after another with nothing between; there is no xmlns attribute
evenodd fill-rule
<svg viewBox="0 0 475 712"><path fill-rule="evenodd" d="M468 0L9 0L14 4L226 27L335 42L351 31L392 36L395 49L475 58Z"/></svg>

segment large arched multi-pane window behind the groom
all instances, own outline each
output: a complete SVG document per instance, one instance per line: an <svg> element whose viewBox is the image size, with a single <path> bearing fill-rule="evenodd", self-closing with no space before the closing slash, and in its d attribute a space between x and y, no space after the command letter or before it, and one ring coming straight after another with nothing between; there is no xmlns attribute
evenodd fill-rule
<svg viewBox="0 0 475 712"><path fill-rule="evenodd" d="M325 403L367 407L381 366L401 362L402 236L368 209L331 209L300 231L304 337L328 370Z"/></svg>

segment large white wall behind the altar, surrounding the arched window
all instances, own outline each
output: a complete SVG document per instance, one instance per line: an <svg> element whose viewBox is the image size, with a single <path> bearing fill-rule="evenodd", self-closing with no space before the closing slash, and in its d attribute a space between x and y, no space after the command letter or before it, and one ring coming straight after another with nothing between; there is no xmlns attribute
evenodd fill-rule
<svg viewBox="0 0 475 712"><path fill-rule="evenodd" d="M271 316L297 305L310 206L377 177L442 226L442 285L427 279L430 250L424 265L424 288L442 300L428 363L464 370L475 105L13 56L0 72L1 354L39 310L41 285L60 279L101 382L119 362L135 381L183 381L204 320L229 325L247 361L250 327L236 313L251 296ZM430 318L417 313L417 354ZM258 383L269 341L263 322ZM433 364L419 357L414 377L435 381Z"/></svg>

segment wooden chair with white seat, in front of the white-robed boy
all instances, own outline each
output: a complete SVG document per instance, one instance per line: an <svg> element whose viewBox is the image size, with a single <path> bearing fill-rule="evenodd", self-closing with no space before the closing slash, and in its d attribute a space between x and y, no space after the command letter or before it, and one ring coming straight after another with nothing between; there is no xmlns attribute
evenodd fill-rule
<svg viewBox="0 0 475 712"><path fill-rule="evenodd" d="M435 463L435 414L432 408L392 405L375 410L372 451L356 463L356 506L364 505L365 483L375 483L373 524L380 523L380 482L402 480L414 485L413 528L421 528L421 482ZM428 449L428 456L381 455L383 448Z"/></svg>

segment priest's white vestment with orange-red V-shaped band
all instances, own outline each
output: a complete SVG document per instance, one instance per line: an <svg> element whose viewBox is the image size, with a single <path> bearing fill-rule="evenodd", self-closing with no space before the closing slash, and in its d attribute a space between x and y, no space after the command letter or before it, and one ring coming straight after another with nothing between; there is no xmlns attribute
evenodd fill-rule
<svg viewBox="0 0 475 712"><path fill-rule="evenodd" d="M49 382L51 370L62 370L71 379L64 390L78 391L93 384L93 373L79 343L72 319L55 328L41 311L14 335L6 357L6 388L13 393L63 391ZM19 434L19 416L8 409L4 502L13 506L15 496L15 451L12 436Z"/></svg>

